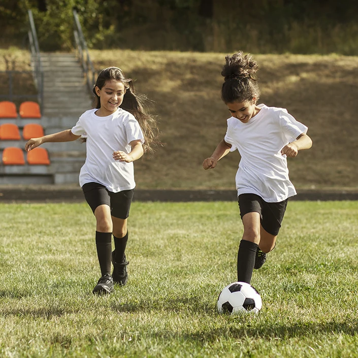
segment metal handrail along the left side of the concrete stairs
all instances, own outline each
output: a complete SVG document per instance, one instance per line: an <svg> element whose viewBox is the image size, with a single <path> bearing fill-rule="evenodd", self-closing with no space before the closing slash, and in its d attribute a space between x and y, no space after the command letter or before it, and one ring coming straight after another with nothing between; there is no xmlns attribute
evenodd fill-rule
<svg viewBox="0 0 358 358"><path fill-rule="evenodd" d="M44 71L42 68L40 47L37 38L34 17L32 16L32 11L30 9L28 10L28 20L30 23L30 29L28 30L28 40L31 52L32 75L34 76L35 85L38 90L38 101L42 111L44 102Z"/></svg>

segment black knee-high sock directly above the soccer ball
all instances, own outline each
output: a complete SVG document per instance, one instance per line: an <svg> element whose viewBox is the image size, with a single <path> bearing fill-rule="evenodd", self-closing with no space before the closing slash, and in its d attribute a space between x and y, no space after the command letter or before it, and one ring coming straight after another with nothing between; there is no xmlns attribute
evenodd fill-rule
<svg viewBox="0 0 358 358"><path fill-rule="evenodd" d="M250 283L257 244L247 240L241 240L238 252L238 281Z"/></svg>

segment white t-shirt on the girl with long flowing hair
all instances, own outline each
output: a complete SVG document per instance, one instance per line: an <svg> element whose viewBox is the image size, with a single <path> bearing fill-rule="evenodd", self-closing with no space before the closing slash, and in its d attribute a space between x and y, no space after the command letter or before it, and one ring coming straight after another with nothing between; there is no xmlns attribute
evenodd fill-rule
<svg viewBox="0 0 358 358"><path fill-rule="evenodd" d="M133 162L114 160L113 152L131 152L129 143L134 140L144 143L142 129L137 119L121 108L106 117L97 116L95 111L84 112L71 129L74 135L87 138L80 186L96 182L112 192L133 189L136 186Z"/></svg>

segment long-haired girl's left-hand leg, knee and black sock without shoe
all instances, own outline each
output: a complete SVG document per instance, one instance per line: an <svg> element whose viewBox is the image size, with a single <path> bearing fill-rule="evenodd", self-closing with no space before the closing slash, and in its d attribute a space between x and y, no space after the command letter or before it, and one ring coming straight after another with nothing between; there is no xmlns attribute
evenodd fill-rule
<svg viewBox="0 0 358 358"><path fill-rule="evenodd" d="M113 230L111 209L106 204L99 205L94 210L94 216L96 218L95 242L101 273L102 276L110 275Z"/></svg>

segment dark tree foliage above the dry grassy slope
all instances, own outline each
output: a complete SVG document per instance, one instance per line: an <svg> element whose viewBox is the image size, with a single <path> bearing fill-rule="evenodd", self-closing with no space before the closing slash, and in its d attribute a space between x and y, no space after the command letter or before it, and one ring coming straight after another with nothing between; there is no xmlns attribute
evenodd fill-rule
<svg viewBox="0 0 358 358"><path fill-rule="evenodd" d="M313 44L331 49L322 36L340 42L349 32L349 49L358 41L355 0L3 0L3 45L23 43L27 9L43 50L73 47L73 9L93 48L222 51L240 37L263 51L310 52Z"/></svg>

